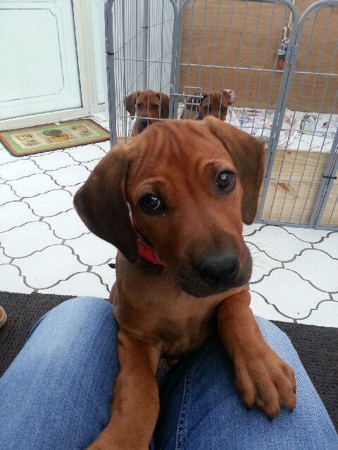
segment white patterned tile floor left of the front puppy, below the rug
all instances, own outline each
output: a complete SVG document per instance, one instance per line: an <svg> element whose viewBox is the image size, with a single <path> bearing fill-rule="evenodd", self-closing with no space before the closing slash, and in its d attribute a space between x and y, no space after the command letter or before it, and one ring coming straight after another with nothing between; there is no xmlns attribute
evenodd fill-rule
<svg viewBox="0 0 338 450"><path fill-rule="evenodd" d="M109 149L107 141L15 158L0 144L0 290L108 297L116 249L89 233L73 196Z"/></svg>

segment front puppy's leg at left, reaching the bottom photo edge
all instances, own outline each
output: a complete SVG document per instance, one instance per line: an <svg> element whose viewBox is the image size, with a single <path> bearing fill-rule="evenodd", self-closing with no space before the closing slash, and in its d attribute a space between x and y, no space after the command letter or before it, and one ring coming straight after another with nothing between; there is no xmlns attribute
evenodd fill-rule
<svg viewBox="0 0 338 450"><path fill-rule="evenodd" d="M111 418L88 450L149 449L159 410L155 378L159 356L159 349L118 332L120 370L115 379Z"/></svg>

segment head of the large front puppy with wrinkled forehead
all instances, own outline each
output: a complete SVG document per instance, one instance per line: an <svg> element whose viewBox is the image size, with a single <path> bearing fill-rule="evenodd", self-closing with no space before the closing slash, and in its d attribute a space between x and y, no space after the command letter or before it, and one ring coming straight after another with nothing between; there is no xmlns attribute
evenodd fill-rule
<svg viewBox="0 0 338 450"><path fill-rule="evenodd" d="M165 121L115 146L75 207L132 263L136 228L182 290L206 297L249 281L242 221L255 217L263 161L262 143L213 117Z"/></svg>

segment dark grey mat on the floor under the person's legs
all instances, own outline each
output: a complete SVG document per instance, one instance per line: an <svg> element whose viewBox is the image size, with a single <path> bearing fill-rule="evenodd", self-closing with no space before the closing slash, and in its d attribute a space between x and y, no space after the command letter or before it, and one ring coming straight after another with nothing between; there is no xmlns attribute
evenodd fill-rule
<svg viewBox="0 0 338 450"><path fill-rule="evenodd" d="M8 321L0 329L0 375L11 364L30 328L46 311L70 296L0 293ZM275 322L296 348L313 385L338 430L338 328Z"/></svg>

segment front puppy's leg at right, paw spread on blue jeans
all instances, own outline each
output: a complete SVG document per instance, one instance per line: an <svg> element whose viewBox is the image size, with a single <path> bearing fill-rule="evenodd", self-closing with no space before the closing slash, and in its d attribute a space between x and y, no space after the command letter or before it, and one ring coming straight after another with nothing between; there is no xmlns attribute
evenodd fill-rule
<svg viewBox="0 0 338 450"><path fill-rule="evenodd" d="M227 298L218 310L218 334L234 364L234 380L243 403L259 406L274 418L280 406L296 406L294 372L263 339L249 307L248 290Z"/></svg>

